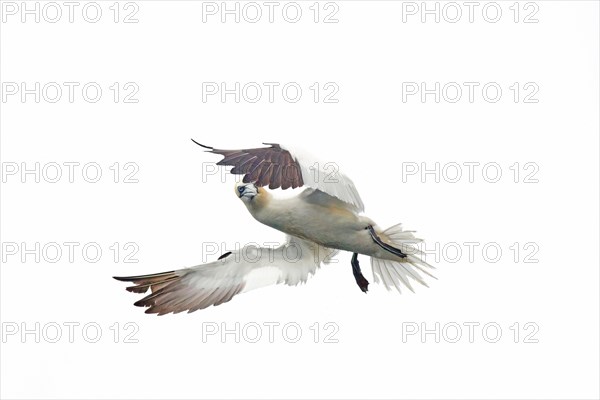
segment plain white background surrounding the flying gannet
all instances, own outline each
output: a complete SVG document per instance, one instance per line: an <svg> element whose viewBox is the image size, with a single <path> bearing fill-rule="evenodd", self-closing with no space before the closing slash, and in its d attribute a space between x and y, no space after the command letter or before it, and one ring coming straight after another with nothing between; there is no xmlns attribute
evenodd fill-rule
<svg viewBox="0 0 600 400"><path fill-rule="evenodd" d="M103 256L86 262L81 247L74 262L66 254L55 263L3 254L3 329L63 326L57 343L3 331L3 397L598 398L597 2L538 1L538 23L523 23L522 14L515 23L513 2L498 3L497 23L482 17L485 3L473 23L464 6L457 23L432 16L422 23L419 14L403 22L401 2L340 1L339 22L331 24L313 22L313 2L300 3L295 24L281 17L281 6L273 23L266 16L221 23L218 15L203 23L202 3L194 1L138 1L138 23L114 23L113 2L99 4L98 23L86 22L81 6L73 23L3 15L3 83L98 82L104 89L97 103L79 90L73 103L65 93L54 104L31 95L1 104L3 170L7 163L96 162L103 172L98 183L86 182L81 169L74 183L5 177L5 246L95 242ZM139 102L115 104L108 89L114 82L136 83ZM304 91L297 103L280 92L273 103L237 104L232 96L203 103L202 82L297 82ZM314 82L336 83L339 102L314 103ZM480 90L472 103L466 92L457 103L431 95L403 102L403 82L497 82L503 95L496 103ZM535 83L538 102L515 103L514 82ZM344 253L303 286L257 290L194 314L145 315L132 305L140 296L113 275L198 264L203 243L231 248L283 238L252 219L231 177L203 182L203 163L218 157L191 137L221 148L302 145L353 178L366 214L381 226L403 222L432 249L477 242L474 259L461 246L455 262L452 252L439 262L428 258L439 279L430 279L429 289L398 295L372 284L365 295ZM123 183L123 176L114 183L115 162L136 163L139 183ZM479 167L472 183L466 176L403 181L407 163L436 162L495 162L503 175L489 183ZM539 182L524 183L521 175L515 183L515 162L535 163ZM121 253L115 263L115 242L136 243L139 262L124 263ZM537 263L524 262L529 242L539 249ZM483 257L486 243L501 247L497 262ZM372 281L367 257L361 262ZM73 343L69 322L80 324ZM97 343L81 333L91 322L102 328ZM139 327L138 343L124 343L128 322ZM236 343L234 335L202 340L203 327L232 329L236 322L281 325L273 343L266 328L258 343ZM290 322L302 328L297 343L281 333ZM338 343L324 343L327 322L339 327ZM468 322L480 324L473 343ZM537 343L524 339L528 322L539 327L530 338ZM403 340L403 329L422 323L456 323L462 337L451 343L454 331L447 331L439 343L433 334ZM496 343L483 335L486 323L501 327Z"/></svg>

